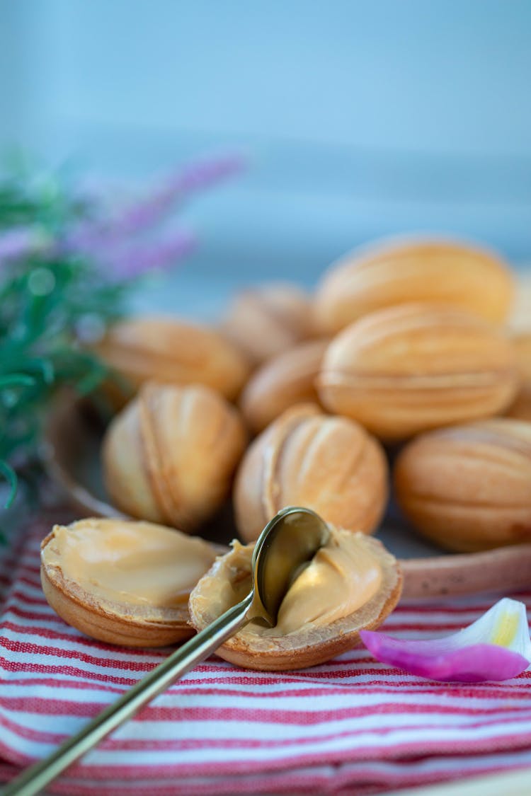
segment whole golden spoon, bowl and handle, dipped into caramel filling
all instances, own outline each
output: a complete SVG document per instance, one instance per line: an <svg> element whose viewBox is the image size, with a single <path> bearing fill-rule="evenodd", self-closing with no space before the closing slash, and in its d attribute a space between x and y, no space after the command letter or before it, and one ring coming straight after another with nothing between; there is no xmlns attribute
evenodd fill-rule
<svg viewBox="0 0 531 796"><path fill-rule="evenodd" d="M134 716L196 663L209 657L247 622L262 618L275 626L280 604L299 568L314 557L326 543L328 535L326 523L310 509L290 506L280 511L267 523L256 542L252 554L253 584L249 594L175 650L87 727L62 743L52 755L22 772L2 790L2 796L38 794L61 771Z"/></svg>

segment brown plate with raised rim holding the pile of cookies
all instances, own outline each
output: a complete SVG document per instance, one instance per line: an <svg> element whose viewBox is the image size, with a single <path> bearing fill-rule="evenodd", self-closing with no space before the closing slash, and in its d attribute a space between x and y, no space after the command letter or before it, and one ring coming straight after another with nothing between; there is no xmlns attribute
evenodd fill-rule
<svg viewBox="0 0 531 796"><path fill-rule="evenodd" d="M105 494L100 444L105 430L101 413L88 401L62 397L45 432L45 466L80 516L124 517ZM228 544L237 536L230 505L201 528L201 536ZM402 599L433 599L479 591L510 593L531 587L531 544L455 555L418 537L390 506L377 533L400 558Z"/></svg>

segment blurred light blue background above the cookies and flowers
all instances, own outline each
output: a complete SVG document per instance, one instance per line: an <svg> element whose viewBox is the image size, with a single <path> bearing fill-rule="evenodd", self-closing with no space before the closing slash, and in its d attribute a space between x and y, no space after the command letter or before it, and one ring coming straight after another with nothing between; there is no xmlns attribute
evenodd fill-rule
<svg viewBox="0 0 531 796"><path fill-rule="evenodd" d="M531 260L530 84L529 0L0 0L0 144L113 178L248 152L176 310L395 232Z"/></svg>

